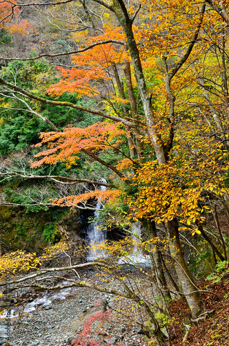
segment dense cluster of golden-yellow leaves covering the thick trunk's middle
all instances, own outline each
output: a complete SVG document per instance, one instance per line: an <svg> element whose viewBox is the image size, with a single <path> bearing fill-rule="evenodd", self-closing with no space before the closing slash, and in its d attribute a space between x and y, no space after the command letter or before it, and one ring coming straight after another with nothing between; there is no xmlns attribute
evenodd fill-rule
<svg viewBox="0 0 229 346"><path fill-rule="evenodd" d="M139 191L131 208L136 217L150 215L157 223L177 217L192 228L195 221L203 221L210 211L207 205L199 206L201 202L206 204L208 192L215 196L227 192L221 175L226 169L221 165L222 151L205 135L208 126L198 127L199 123L195 120L192 126L194 122L184 122L186 131L179 140L175 138L168 163L158 167L157 161L149 161L135 174ZM192 154L184 149L186 143Z"/></svg>

